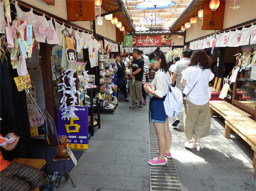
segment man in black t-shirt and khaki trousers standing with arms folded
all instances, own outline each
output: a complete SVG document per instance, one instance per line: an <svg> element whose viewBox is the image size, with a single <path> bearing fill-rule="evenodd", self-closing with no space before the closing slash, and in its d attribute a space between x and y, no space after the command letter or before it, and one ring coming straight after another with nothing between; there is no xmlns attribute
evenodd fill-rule
<svg viewBox="0 0 256 191"><path fill-rule="evenodd" d="M143 67L144 61L139 55L139 49L133 49L133 62L132 68L130 69L130 97L132 98L133 104L130 108L142 107L143 97L142 97L142 78L143 78ZM137 102L139 100L139 104Z"/></svg>

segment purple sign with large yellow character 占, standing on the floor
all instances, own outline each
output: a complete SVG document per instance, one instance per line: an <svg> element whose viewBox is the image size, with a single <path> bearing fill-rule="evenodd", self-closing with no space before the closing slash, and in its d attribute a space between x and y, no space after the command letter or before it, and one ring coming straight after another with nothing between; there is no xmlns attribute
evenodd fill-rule
<svg viewBox="0 0 256 191"><path fill-rule="evenodd" d="M61 119L60 107L57 109L58 137L67 136L68 147L88 149L88 107L76 106L75 119Z"/></svg>

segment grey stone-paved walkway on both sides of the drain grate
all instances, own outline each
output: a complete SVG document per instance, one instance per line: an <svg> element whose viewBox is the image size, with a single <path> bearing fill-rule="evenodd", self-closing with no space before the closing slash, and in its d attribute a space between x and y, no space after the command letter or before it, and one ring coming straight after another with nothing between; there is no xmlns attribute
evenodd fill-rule
<svg viewBox="0 0 256 191"><path fill-rule="evenodd" d="M96 129L89 149L71 170L77 186L64 182L56 190L150 190L148 106L129 109L129 104L120 103L114 115L101 115L102 129ZM252 152L239 136L224 138L220 117L212 118L200 152L183 147L181 124L176 130L170 125L171 154L184 191L256 190Z"/></svg>

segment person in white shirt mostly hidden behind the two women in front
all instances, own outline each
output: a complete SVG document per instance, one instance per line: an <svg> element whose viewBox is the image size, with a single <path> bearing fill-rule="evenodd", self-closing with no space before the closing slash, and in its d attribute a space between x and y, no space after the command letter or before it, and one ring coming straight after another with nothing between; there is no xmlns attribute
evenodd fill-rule
<svg viewBox="0 0 256 191"><path fill-rule="evenodd" d="M185 49L182 51L182 59L180 61L177 61L174 66L170 66L169 71L173 73L171 75L171 82L174 84L176 81L176 86L179 88L180 91L183 91L184 88L180 84L180 80L182 79L182 71L188 68L188 65L190 63L192 50L191 49ZM180 123L179 116L175 117L175 120L171 124L172 126L176 127Z"/></svg>

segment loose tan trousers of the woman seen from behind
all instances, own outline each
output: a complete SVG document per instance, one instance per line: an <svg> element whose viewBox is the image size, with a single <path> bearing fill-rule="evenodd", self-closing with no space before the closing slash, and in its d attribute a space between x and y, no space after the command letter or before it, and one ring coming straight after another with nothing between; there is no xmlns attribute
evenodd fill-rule
<svg viewBox="0 0 256 191"><path fill-rule="evenodd" d="M196 138L209 135L211 126L211 114L209 103L197 106L190 101L186 101L183 113L183 131L186 137L192 139L192 132Z"/></svg>

